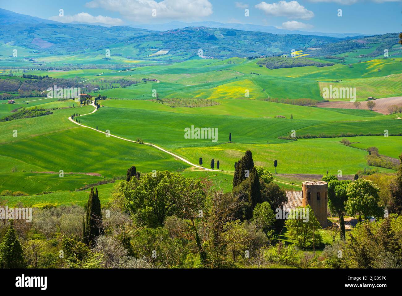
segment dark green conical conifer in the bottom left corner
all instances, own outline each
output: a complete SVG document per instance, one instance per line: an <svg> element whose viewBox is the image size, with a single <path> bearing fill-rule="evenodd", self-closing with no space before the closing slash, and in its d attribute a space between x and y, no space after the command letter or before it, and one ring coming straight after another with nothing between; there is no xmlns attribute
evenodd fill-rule
<svg viewBox="0 0 402 296"><path fill-rule="evenodd" d="M9 220L7 233L0 244L0 267L23 268L25 267L23 248L16 236L13 220Z"/></svg>

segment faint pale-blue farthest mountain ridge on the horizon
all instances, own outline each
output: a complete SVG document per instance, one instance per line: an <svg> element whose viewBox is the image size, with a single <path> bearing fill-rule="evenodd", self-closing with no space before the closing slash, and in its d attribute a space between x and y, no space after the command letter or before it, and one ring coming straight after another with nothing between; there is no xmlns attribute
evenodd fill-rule
<svg viewBox="0 0 402 296"><path fill-rule="evenodd" d="M152 31L168 31L172 29L183 29L185 27L209 27L209 28L225 28L236 29L242 31L253 32L266 32L271 34L298 34L298 35L315 35L315 36L329 36L336 38L364 36L367 34L362 33L322 33L322 32L306 32L298 30L278 29L272 26L252 25L252 24L240 24L240 23L219 23L219 22L193 22L183 23L172 21L170 23L156 24L156 25L130 25L133 28L147 29Z"/></svg>

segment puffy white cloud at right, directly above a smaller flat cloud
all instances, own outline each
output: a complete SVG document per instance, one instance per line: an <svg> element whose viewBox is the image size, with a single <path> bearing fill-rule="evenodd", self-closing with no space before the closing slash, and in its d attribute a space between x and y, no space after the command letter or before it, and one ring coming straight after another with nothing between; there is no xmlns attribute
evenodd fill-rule
<svg viewBox="0 0 402 296"><path fill-rule="evenodd" d="M314 12L307 10L303 5L297 1L279 1L277 3L268 4L263 1L255 6L263 10L265 14L272 16L286 16L289 19L303 19L308 20L314 16Z"/></svg>

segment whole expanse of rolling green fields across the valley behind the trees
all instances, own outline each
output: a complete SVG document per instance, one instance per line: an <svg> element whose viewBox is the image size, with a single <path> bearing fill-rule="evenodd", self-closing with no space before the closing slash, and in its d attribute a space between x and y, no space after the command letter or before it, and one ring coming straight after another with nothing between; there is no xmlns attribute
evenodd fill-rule
<svg viewBox="0 0 402 296"><path fill-rule="evenodd" d="M121 46L119 48L123 48ZM1 48L4 50L6 47ZM125 47L125 50L128 54L131 48ZM100 58L96 54L89 62ZM84 58L80 54L39 56L49 63L74 60L75 64L80 64ZM77 117L82 124L103 132L109 130L111 134L129 140L141 138L195 164L202 157L204 166L208 167L211 158L214 158L215 163L219 160L220 168L216 172L191 169L189 164L148 145L108 138L105 134L79 127L68 120L72 113L92 112L92 106L78 107L73 100L21 98L16 99L15 104L0 104L0 118L21 107L37 107L53 113L0 123L0 191L24 191L31 195L9 197L9 201L24 200L37 206L46 203L82 203L87 193L75 189L105 178L121 177L133 164L141 173L155 169L180 171L187 177L207 176L228 191L232 188L234 162L246 150L252 151L257 165L265 166L271 172L275 171L273 161L277 160L277 172L285 174L280 175L277 182L287 190L298 190L299 187L298 183L288 184L293 183L293 177L284 177L286 174L324 174L326 171L338 174L342 171L345 175L353 175L364 169L393 173L390 169L367 166L367 152L363 149L376 146L380 154L397 158L402 152L402 137L349 137L351 147L341 144L341 138L327 137L347 133L383 134L385 129L390 134L398 134L402 123L395 120L396 115L268 101L322 101L322 88L329 84L356 87L358 100L369 96L402 95L401 58L374 58L349 66L348 61L355 58L350 55L344 63L335 60L333 66L321 68L304 66L269 70L258 66L258 59L195 59L163 64L128 61L118 57L120 62L129 66L120 70L29 71L33 75L76 79L100 87L113 85L115 88L92 93L96 96L105 95L108 99L99 101L101 107L95 113ZM312 60L318 61L316 58ZM109 62L116 63L117 60L102 60L99 63ZM29 62L25 60L24 63ZM23 73L17 71L14 74ZM144 83L144 78L158 79L159 82ZM18 76L12 76L11 79L26 80ZM141 83L121 88L115 82L119 79ZM162 101L155 100L155 91ZM180 107L178 100L176 107L170 107L163 99L213 101L204 107ZM217 128L217 140L186 139L185 128L192 125ZM14 137L15 130L17 137ZM299 138L297 141L278 138L291 136L292 132ZM232 143L229 142L230 133ZM310 138L301 139L302 136ZM64 171L63 178L59 177L60 170ZM104 198L109 200L113 186L102 186L107 192ZM35 195L45 191L57 192Z"/></svg>

